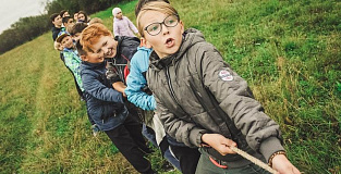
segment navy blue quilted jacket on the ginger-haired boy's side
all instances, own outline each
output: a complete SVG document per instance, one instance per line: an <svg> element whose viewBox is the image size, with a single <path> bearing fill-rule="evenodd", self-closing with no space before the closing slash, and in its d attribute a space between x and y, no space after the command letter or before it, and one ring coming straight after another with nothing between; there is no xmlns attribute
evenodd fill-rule
<svg viewBox="0 0 341 174"><path fill-rule="evenodd" d="M124 107L122 94L114 90L106 77L106 61L83 61L81 76L89 115L99 128L110 130L121 125L129 112Z"/></svg>

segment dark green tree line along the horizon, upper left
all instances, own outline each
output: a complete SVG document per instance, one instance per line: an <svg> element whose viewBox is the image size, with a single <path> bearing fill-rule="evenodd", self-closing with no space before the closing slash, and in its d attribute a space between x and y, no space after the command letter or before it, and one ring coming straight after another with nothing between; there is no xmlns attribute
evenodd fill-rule
<svg viewBox="0 0 341 174"><path fill-rule="evenodd" d="M47 14L22 17L11 25L9 29L0 35L0 54L20 46L26 41L33 40L42 35L52 27L49 16L59 13L61 10L68 10L71 14L85 11L92 14L102 11L119 3L122 0L53 0L46 4ZM129 0L127 0L129 1Z"/></svg>

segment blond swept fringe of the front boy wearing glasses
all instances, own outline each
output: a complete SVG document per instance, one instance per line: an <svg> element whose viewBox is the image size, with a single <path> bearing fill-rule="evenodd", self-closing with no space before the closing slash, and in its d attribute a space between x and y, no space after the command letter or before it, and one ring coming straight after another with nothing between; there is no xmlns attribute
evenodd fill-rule
<svg viewBox="0 0 341 174"><path fill-rule="evenodd" d="M141 16L147 11L156 11L156 12L161 12L168 15L176 15L180 20L178 11L170 3L167 3L165 1L158 1L158 0L145 3L141 8L138 15L136 17L137 29L142 37L144 37L144 28L141 25Z"/></svg>

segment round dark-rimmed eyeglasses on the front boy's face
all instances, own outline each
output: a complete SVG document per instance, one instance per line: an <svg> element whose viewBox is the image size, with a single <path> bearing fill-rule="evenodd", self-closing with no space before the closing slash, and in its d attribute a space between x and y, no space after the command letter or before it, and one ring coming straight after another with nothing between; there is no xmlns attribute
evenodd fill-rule
<svg viewBox="0 0 341 174"><path fill-rule="evenodd" d="M178 15L169 15L167 16L162 23L153 23L145 27L145 30L151 35L156 36L162 30L162 24L167 27L174 27L179 23L179 16Z"/></svg>

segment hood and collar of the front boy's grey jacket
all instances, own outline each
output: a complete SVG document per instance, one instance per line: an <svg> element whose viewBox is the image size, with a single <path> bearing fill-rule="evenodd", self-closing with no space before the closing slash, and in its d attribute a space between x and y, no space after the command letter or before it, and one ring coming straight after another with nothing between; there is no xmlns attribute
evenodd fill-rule
<svg viewBox="0 0 341 174"><path fill-rule="evenodd" d="M194 28L186 29L183 33L182 38L182 44L174 54L160 59L158 54L153 51L149 57L150 69L154 71L160 71L168 65L174 65L192 46L205 41L204 35Z"/></svg>

